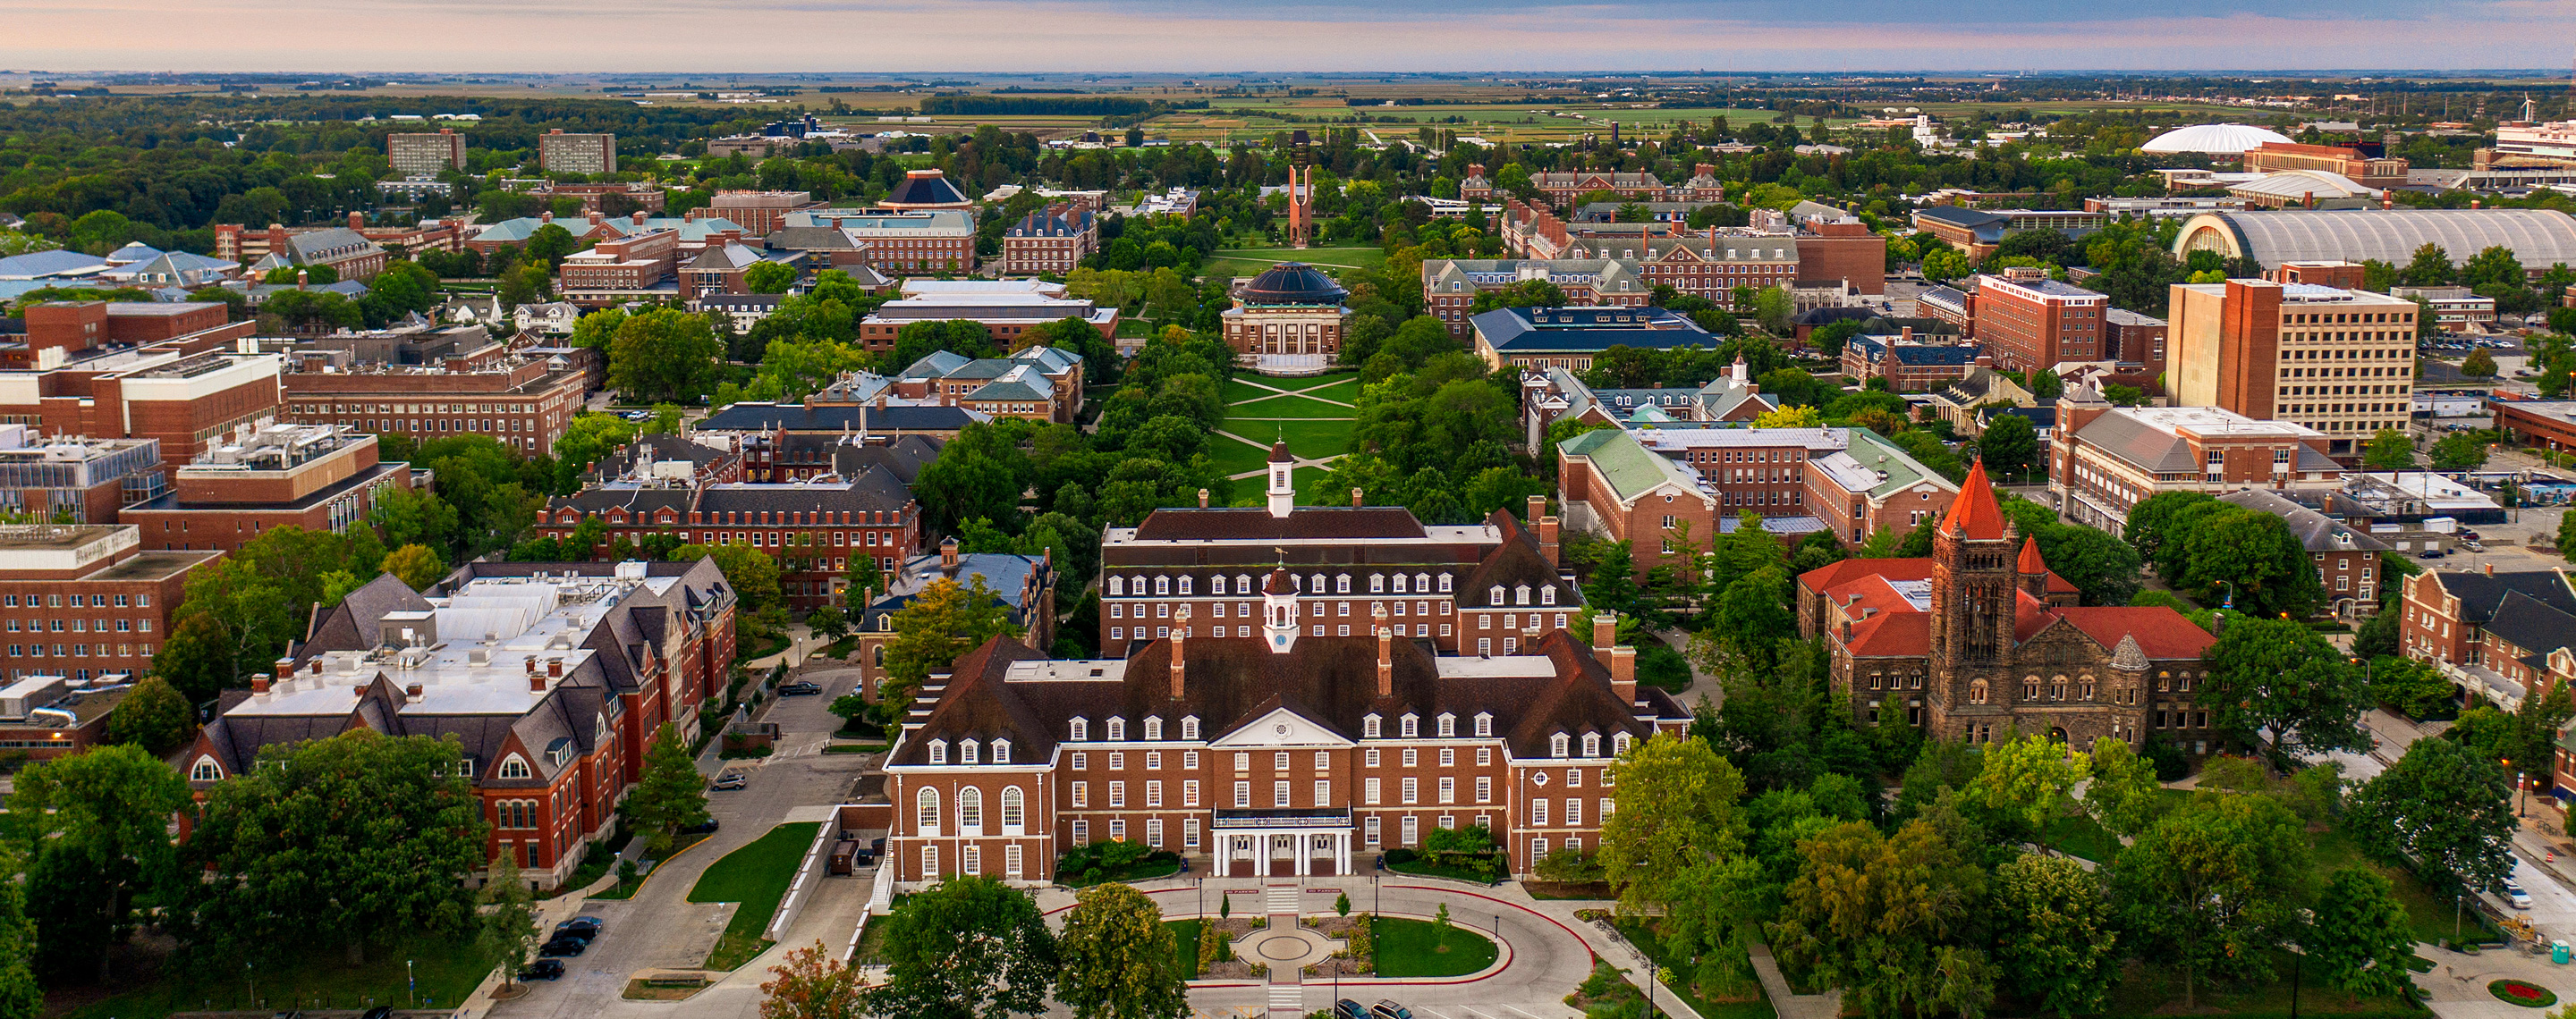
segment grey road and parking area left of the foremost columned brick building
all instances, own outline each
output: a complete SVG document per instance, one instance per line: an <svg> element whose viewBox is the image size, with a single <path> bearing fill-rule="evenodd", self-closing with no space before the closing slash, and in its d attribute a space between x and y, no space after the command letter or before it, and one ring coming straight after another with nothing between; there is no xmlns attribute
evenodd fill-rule
<svg viewBox="0 0 2576 1019"><path fill-rule="evenodd" d="M721 986L698 993L685 1004L623 1001L626 980L639 970L680 968L696 970L706 962L706 950L732 919L721 903L690 903L688 890L698 875L726 852L734 852L791 818L819 818L822 808L845 803L850 785L866 767L860 754L819 754L840 718L824 705L850 692L858 672L814 672L822 682L819 697L778 697L762 721L781 728L781 751L762 762L716 762L714 744L698 759L703 775L719 764L750 772L750 785L737 793L708 793L708 813L721 826L716 836L690 847L657 870L631 901L587 901L580 916L598 916L603 934L590 952L564 960L564 978L533 983L528 996L502 1001L492 1016L510 1019L592 1019L592 1016L672 1016L685 1009L696 1016L755 1016L760 1006L757 983L786 947L822 939L840 950L850 939L858 911L868 901L868 877L809 880L811 903L799 913L783 947L734 970ZM574 913L572 903L554 903L549 924Z"/></svg>

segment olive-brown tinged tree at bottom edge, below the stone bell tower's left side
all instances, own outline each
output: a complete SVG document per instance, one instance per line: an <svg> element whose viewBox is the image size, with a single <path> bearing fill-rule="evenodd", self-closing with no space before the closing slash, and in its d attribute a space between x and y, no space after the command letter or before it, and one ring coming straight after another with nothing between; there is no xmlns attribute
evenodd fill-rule
<svg viewBox="0 0 2576 1019"><path fill-rule="evenodd" d="M1798 857L1770 924L1783 962L1839 986L1862 1014L1984 1016L1996 973L1968 942L1968 916L1986 875L1929 821L1893 836L1844 821L1801 841Z"/></svg>

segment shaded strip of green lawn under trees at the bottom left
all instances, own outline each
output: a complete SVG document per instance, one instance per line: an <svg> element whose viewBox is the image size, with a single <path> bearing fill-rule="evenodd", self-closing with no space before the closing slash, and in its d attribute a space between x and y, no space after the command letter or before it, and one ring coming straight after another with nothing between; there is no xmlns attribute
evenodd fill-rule
<svg viewBox="0 0 2576 1019"><path fill-rule="evenodd" d="M291 1009L368 1009L379 1004L407 1006L404 962L420 980L420 1006L453 1009L464 1004L474 986L492 973L471 937L422 937L392 950L371 950L366 965L345 965L337 950L304 952L296 962L263 965L196 980L180 960L165 962L162 978L113 998L72 1009L64 1019L157 1019L173 1011L234 1009L234 1011L291 1011ZM258 1001L250 1001L250 980L258 980Z"/></svg>

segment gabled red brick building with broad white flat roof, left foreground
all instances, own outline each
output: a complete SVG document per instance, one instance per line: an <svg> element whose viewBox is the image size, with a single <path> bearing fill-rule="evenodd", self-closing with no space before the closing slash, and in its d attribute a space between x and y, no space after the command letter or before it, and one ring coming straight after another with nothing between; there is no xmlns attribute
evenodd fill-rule
<svg viewBox="0 0 2576 1019"><path fill-rule="evenodd" d="M204 793L270 744L456 739L487 857L510 852L554 888L613 826L654 731L696 736L698 705L732 674L734 607L711 558L471 564L428 594L386 574L314 612L273 674L227 690L180 767Z"/></svg>

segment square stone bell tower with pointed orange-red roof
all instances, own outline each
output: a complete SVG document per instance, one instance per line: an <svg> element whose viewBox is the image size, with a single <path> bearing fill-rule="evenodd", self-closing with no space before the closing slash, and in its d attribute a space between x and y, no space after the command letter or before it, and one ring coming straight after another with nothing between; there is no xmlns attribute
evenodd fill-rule
<svg viewBox="0 0 2576 1019"><path fill-rule="evenodd" d="M2012 661L2020 571L2012 522L1994 502L1986 461L1968 468L1958 502L1932 530L1932 674Z"/></svg>

